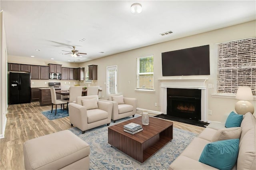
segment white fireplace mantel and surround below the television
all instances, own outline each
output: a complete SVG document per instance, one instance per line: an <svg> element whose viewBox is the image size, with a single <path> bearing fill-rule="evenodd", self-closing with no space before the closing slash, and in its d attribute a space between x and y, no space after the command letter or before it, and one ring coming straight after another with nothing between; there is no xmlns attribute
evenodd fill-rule
<svg viewBox="0 0 256 170"><path fill-rule="evenodd" d="M167 88L201 89L201 121L207 122L208 93L205 82L207 79L157 79L160 81L161 112L167 114Z"/></svg>

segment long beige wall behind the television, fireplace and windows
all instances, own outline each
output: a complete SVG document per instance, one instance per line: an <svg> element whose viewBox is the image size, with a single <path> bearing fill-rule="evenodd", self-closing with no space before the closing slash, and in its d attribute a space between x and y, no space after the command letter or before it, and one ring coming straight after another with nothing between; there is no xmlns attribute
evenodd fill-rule
<svg viewBox="0 0 256 170"><path fill-rule="evenodd" d="M208 83L213 84L212 89L208 91L208 109L212 110L212 115L207 115L209 121L225 122L227 115L234 111L236 99L216 98L212 94L216 93L217 80L217 48L216 43L238 40L248 37L256 36L256 21L222 28L203 34L197 34L177 40L172 40L164 43L158 43L108 57L95 59L81 63L80 67L85 67L88 70L88 65L98 65L98 80L94 85L102 87L102 99L106 99L106 67L117 65L118 67L118 92L122 92L126 97L135 97L138 99L138 107L142 109L149 109L160 111L160 88L157 79L174 79L174 78L207 78L206 87ZM175 33L174 33L175 34ZM171 36L171 35L170 35ZM166 51L173 51L177 49L184 49L188 47L196 47L200 45L210 45L210 75L200 76L162 76L162 60L161 53ZM137 92L136 89L136 57L154 54L154 93ZM130 84L128 83L130 81ZM82 84L84 84L82 82ZM157 107L154 106L157 103ZM255 106L255 101L253 101Z"/></svg>

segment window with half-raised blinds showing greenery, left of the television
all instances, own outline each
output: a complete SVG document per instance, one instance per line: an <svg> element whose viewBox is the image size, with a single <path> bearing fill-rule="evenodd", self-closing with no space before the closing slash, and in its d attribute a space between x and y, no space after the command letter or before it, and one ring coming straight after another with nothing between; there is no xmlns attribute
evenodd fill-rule
<svg viewBox="0 0 256 170"><path fill-rule="evenodd" d="M137 89L154 89L154 56L137 58L137 74L136 88Z"/></svg>

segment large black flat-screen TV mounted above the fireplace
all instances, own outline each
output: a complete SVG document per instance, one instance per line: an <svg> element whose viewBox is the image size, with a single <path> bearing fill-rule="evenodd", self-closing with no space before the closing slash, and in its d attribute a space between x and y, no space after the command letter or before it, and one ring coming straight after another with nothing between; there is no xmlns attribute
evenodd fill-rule
<svg viewBox="0 0 256 170"><path fill-rule="evenodd" d="M209 45L162 53L163 76L210 75Z"/></svg>

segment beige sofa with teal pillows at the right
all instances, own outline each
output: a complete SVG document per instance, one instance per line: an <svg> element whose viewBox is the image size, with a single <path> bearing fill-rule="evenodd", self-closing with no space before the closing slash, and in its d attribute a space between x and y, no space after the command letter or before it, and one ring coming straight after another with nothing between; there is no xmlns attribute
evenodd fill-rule
<svg viewBox="0 0 256 170"><path fill-rule="evenodd" d="M243 117L241 127L242 132L239 140L238 159L232 170L256 170L256 119L254 115L246 113ZM214 134L222 128L225 128L224 123L210 123L198 137L192 140L180 156L170 164L169 169L216 170L216 168L203 164L198 160L204 146L210 143ZM222 133L224 133L222 135L225 135L225 131Z"/></svg>

